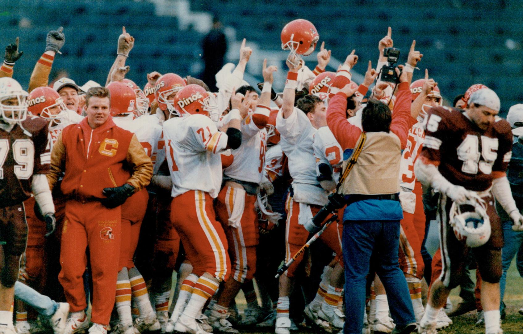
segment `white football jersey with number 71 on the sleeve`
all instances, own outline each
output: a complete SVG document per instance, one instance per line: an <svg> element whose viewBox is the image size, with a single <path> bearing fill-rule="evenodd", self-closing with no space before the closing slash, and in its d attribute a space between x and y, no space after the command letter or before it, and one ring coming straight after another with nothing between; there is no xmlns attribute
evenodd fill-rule
<svg viewBox="0 0 523 334"><path fill-rule="evenodd" d="M222 186L220 152L227 147L226 133L204 115L171 118L163 124L167 164L173 179L171 195L189 190L216 198Z"/></svg>

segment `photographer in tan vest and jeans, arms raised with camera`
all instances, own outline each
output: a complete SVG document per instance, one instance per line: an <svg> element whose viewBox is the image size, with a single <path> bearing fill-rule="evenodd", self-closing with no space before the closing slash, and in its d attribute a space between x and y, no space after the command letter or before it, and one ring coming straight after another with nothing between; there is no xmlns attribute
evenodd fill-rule
<svg viewBox="0 0 523 334"><path fill-rule="evenodd" d="M400 65L403 69L403 66ZM381 102L369 101L362 110L362 128L367 139L358 161L340 190L345 195L343 258L345 264L345 333L361 333L365 312L366 276L371 255L376 255L376 272L390 300L395 333L415 329L414 311L405 277L398 265L400 220L399 202L401 150L405 148L411 113L410 73L395 69L399 76L394 113ZM400 74L401 73L401 74ZM333 86L339 87L338 77ZM349 85L332 97L327 109L327 125L343 150L353 149L361 130L345 119Z"/></svg>

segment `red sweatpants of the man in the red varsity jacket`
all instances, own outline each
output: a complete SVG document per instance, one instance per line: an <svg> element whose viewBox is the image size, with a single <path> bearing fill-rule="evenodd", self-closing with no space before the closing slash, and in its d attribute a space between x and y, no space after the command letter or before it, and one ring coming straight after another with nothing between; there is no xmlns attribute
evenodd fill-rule
<svg viewBox="0 0 523 334"><path fill-rule="evenodd" d="M85 302L82 275L87 266L89 247L93 277L93 308L91 321L109 325L115 305L116 279L121 242L121 207L108 209L100 202L79 202L65 205L65 219L60 250L59 280L70 311L81 311Z"/></svg>

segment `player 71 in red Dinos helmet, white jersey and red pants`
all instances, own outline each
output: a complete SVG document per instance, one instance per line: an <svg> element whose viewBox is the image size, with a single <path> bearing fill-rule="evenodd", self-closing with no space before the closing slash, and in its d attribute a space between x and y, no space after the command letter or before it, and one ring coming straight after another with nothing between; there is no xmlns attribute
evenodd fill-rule
<svg viewBox="0 0 523 334"><path fill-rule="evenodd" d="M230 121L222 128L225 132L218 131L214 122L219 109L214 99L202 87L188 85L173 103L181 117L163 125L173 181L170 219L193 268L169 320L180 332L203 331L196 317L231 271L225 233L215 218L212 199L218 197L222 184L220 152L237 149L242 142L241 101L233 102L234 109L227 115Z"/></svg>

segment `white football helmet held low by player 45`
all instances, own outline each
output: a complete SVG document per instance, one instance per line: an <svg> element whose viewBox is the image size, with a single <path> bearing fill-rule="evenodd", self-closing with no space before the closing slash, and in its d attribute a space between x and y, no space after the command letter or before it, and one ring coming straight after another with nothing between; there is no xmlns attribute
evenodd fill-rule
<svg viewBox="0 0 523 334"><path fill-rule="evenodd" d="M461 211L463 206L472 206L474 211ZM486 203L478 198L463 204L452 203L449 214L450 226L456 238L468 247L483 246L491 235L490 219L486 213Z"/></svg>

